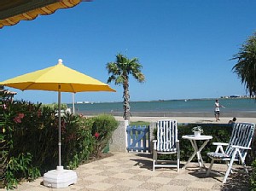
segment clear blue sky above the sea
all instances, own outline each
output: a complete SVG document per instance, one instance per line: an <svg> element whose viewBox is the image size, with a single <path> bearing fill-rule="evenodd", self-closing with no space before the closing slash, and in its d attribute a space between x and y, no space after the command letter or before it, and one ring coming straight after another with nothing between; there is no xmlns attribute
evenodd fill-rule
<svg viewBox="0 0 256 191"><path fill-rule="evenodd" d="M246 90L230 61L255 32L256 1L94 0L0 29L0 81L57 64L106 83L119 52L137 57L146 82L130 80L131 101L215 98ZM75 101L122 101L116 93L78 93ZM15 89L9 89L15 90ZM16 99L57 102L57 93L27 90ZM72 95L62 93L62 102Z"/></svg>

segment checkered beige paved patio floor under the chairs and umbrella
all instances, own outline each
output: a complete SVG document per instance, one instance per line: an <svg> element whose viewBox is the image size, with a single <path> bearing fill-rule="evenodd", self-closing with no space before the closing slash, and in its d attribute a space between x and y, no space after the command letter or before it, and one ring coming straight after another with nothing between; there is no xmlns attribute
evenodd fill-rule
<svg viewBox="0 0 256 191"><path fill-rule="evenodd" d="M181 167L184 165L182 162ZM209 164L206 164L207 166ZM213 170L225 171L225 165L213 165ZM217 175L206 177L199 172L197 164L186 170L156 169L152 171L150 153L113 153L112 156L80 165L77 170L79 180L68 188L47 188L42 185L43 177L34 182L23 182L19 191L145 191L145 190L247 190L247 176L234 174L223 184ZM0 189L3 190L3 189Z"/></svg>

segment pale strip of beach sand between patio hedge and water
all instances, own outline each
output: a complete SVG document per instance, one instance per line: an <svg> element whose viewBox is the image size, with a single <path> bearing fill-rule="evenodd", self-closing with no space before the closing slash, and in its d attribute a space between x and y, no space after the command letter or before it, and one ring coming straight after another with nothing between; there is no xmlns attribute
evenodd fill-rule
<svg viewBox="0 0 256 191"><path fill-rule="evenodd" d="M114 116L115 119L124 120L120 116ZM147 121L156 122L160 119L176 119L177 123L214 123L214 124L227 124L232 118L220 118L220 121L216 122L215 118L201 118L201 117L131 117L131 121ZM236 123L248 122L256 124L256 118L236 118Z"/></svg>

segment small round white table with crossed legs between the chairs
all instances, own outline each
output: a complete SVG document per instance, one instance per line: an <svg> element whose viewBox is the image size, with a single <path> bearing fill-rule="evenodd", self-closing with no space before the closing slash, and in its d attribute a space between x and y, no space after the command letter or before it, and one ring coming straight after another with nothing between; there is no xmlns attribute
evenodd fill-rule
<svg viewBox="0 0 256 191"><path fill-rule="evenodd" d="M201 158L201 150L207 145L207 142L209 142L212 139L212 136L195 136L195 135L186 135L182 136L183 139L188 139L191 142L192 147L194 148L194 153L189 158L188 162L183 166L183 169L189 165L190 161L195 157L195 154L197 155L198 164L200 166L200 170L203 167L206 167L204 165L204 161ZM197 147L196 141L205 141L200 148Z"/></svg>

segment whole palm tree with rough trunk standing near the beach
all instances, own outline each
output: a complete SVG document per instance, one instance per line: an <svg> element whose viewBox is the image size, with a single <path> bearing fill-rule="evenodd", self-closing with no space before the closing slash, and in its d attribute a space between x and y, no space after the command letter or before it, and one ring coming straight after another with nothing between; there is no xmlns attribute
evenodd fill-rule
<svg viewBox="0 0 256 191"><path fill-rule="evenodd" d="M129 94L129 75L131 74L139 83L145 81L145 76L143 75L141 69L143 66L139 63L137 58L128 59L125 55L120 53L116 55L115 62L108 62L107 67L108 83L114 81L114 84L123 85L123 107L124 107L124 119L129 120L130 113L130 94Z"/></svg>

